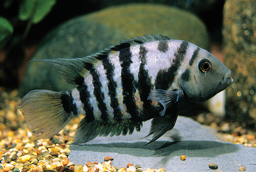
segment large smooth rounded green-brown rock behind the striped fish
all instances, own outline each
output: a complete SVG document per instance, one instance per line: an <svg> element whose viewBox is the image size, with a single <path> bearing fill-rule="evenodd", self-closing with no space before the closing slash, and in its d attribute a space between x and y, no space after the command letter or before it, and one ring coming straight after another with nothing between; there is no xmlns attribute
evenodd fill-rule
<svg viewBox="0 0 256 172"><path fill-rule="evenodd" d="M206 27L194 14L163 5L132 4L69 20L49 33L33 59L84 57L120 40L152 33L209 47ZM31 62L19 96L35 89L61 91L74 87L57 75L54 67Z"/></svg>

